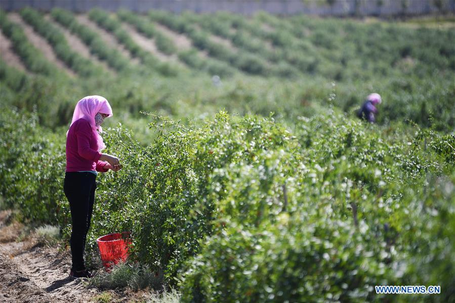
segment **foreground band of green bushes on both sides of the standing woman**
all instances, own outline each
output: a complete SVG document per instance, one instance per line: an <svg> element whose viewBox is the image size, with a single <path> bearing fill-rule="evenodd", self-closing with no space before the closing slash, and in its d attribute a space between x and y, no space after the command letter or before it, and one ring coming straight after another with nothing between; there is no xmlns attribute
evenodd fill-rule
<svg viewBox="0 0 455 303"><path fill-rule="evenodd" d="M20 114L0 115L2 195L67 236L62 138ZM374 286L401 284L441 285L441 302L455 293L455 136L378 132L334 112L301 117L293 133L225 112L200 127L150 119L147 147L122 127L103 135L124 168L98 178L88 245L132 231L133 258L183 301L394 301Z"/></svg>

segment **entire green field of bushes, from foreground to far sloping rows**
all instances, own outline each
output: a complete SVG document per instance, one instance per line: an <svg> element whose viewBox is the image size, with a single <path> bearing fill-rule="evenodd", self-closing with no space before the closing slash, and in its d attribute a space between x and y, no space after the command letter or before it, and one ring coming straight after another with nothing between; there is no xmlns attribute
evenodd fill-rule
<svg viewBox="0 0 455 303"><path fill-rule="evenodd" d="M188 302L455 300L453 27L86 14L134 63L72 12L18 15L75 74L0 11L25 66L0 59L0 207L18 220L68 240L65 133L76 102L101 95L114 112L106 152L123 169L97 179L88 256L100 235L131 231L131 262L149 285ZM108 68L72 50L60 27ZM144 50L129 27L174 59ZM376 124L355 115L371 92L383 98Z"/></svg>

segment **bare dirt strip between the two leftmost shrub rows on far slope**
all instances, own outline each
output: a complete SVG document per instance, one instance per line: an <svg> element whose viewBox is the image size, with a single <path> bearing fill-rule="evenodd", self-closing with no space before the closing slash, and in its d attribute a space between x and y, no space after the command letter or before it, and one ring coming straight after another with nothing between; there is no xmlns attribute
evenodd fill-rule
<svg viewBox="0 0 455 303"><path fill-rule="evenodd" d="M57 58L48 41L46 41L45 38L34 32L33 28L27 23L25 23L19 16L19 14L17 13L8 14L8 19L10 19L16 24L19 24L22 27L28 40L34 45L35 48L37 48L43 53L46 59L57 65L60 69L66 71L70 76L73 77L76 76L76 74L71 69L69 69L65 64L63 64L62 61L60 61L60 59Z"/></svg>

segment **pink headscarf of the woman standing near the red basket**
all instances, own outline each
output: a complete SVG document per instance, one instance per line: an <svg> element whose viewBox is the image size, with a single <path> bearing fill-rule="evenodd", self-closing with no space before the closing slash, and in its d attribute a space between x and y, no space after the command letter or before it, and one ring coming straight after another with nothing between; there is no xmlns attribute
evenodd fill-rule
<svg viewBox="0 0 455 303"><path fill-rule="evenodd" d="M95 115L97 113L107 114L108 117L112 117L112 109L106 98L101 96L87 96L85 98L82 98L76 104L71 125L73 125L75 121L81 118L89 121L90 125L92 126L95 138L97 138L98 151L100 151L106 148L106 145L103 142L103 138L101 138L100 134L97 132L98 129L98 131L102 133L103 129L101 126L95 125ZM69 127L71 127L71 125L69 125ZM68 136L68 132L66 135Z"/></svg>

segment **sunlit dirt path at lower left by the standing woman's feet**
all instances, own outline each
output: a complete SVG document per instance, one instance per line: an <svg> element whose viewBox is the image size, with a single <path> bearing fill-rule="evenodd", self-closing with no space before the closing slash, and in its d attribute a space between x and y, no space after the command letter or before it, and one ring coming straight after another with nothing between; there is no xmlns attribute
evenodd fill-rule
<svg viewBox="0 0 455 303"><path fill-rule="evenodd" d="M89 302L99 294L85 279L70 279L69 252L36 239L17 242L20 225L0 212L0 302Z"/></svg>

